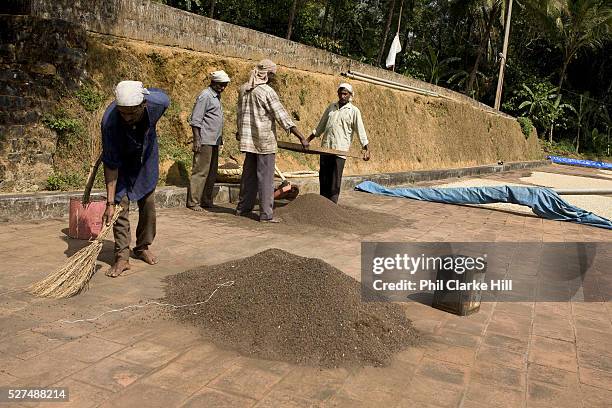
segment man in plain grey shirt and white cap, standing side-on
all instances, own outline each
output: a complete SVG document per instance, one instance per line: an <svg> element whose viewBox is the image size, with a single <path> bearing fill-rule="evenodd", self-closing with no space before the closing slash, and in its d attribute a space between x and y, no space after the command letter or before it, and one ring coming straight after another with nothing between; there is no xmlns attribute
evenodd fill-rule
<svg viewBox="0 0 612 408"><path fill-rule="evenodd" d="M189 118L193 133L193 167L187 189L187 208L202 211L213 207L219 146L223 145L221 92L230 78L225 71L210 74L210 86L197 97Z"/></svg>

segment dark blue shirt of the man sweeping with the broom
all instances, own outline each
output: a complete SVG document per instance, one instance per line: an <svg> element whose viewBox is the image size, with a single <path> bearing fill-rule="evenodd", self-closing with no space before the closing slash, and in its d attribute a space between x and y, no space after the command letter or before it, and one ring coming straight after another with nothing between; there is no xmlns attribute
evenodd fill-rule
<svg viewBox="0 0 612 408"><path fill-rule="evenodd" d="M102 117L102 162L118 169L115 202L124 196L138 201L155 189L159 178L159 146L155 126L170 105L161 89L150 88L146 109L134 126L123 121L115 102Z"/></svg>

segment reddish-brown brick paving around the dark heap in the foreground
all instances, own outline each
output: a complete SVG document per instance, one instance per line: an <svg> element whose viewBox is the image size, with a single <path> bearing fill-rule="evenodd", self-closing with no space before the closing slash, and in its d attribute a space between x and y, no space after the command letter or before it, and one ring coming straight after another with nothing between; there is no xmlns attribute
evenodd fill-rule
<svg viewBox="0 0 612 408"><path fill-rule="evenodd" d="M66 238L67 221L0 224L0 385L69 387L70 402L54 407L610 406L609 302L485 303L467 317L406 303L422 344L384 368L321 370L252 359L142 310L95 323L59 322L158 298L169 274L270 247L322 258L359 279L362 240L612 242L603 229L490 209L354 192L343 193L342 203L393 213L409 226L360 237L264 226L229 213L159 210L158 265L133 260L118 279L97 273L88 292L61 301L10 291L46 276L82 247ZM100 271L111 259L108 242Z"/></svg>

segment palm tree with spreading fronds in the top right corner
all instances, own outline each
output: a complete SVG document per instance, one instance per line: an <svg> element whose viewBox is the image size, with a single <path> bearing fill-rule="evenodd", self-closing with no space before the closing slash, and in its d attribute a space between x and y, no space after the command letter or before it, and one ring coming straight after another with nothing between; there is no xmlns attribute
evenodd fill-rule
<svg viewBox="0 0 612 408"><path fill-rule="evenodd" d="M541 0L527 3L562 54L559 91L567 67L584 48L597 48L610 36L612 5L609 0ZM559 92L557 98L561 98Z"/></svg>

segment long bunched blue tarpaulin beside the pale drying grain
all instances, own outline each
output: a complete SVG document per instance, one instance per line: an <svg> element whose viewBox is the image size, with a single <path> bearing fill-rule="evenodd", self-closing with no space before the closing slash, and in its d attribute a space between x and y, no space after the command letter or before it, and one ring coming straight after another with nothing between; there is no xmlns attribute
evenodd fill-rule
<svg viewBox="0 0 612 408"><path fill-rule="evenodd" d="M372 181L364 181L355 189L389 197L446 204L520 204L530 207L536 215L549 220L571 221L612 229L612 221L575 207L553 190L543 187L387 188Z"/></svg>

